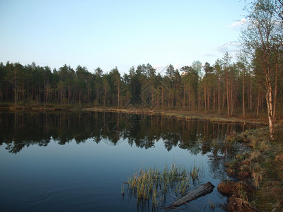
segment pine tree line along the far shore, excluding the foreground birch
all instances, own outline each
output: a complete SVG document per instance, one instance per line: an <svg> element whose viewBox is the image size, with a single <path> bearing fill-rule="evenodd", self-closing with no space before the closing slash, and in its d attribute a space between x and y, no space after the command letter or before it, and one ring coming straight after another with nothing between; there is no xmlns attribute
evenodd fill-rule
<svg viewBox="0 0 283 212"><path fill-rule="evenodd" d="M280 55L282 57L282 55ZM277 76L282 81L282 64ZM163 74L151 64L134 66L120 75L117 67L103 73L99 67L93 73L85 66L72 69L66 64L58 70L20 63L0 64L0 101L23 104L88 104L93 107L148 107L158 110L188 110L226 112L235 110L266 112L262 74L243 61L232 63L228 53L213 65L194 61L180 70L167 66ZM253 69L254 68L254 69ZM278 74L280 73L280 74ZM277 83L274 113L282 115L282 84ZM274 118L276 117L274 116Z"/></svg>

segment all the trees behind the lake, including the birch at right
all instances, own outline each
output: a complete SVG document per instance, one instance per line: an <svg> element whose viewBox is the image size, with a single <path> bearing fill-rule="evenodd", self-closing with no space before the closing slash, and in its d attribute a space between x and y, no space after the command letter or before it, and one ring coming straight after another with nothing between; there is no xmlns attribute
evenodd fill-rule
<svg viewBox="0 0 283 212"><path fill-rule="evenodd" d="M14 105L58 104L91 107L139 105L158 110L226 113L268 112L282 119L282 1L255 1L240 35L241 51L232 62L228 52L214 64L193 61L180 70L151 64L132 66L121 76L117 67L88 71L64 64L0 64L0 102ZM271 120L269 120L271 121Z"/></svg>

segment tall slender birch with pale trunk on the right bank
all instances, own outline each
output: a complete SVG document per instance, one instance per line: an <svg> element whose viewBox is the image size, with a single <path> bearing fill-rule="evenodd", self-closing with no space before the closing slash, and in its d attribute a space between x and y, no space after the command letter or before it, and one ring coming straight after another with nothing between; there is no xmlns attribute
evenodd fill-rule
<svg viewBox="0 0 283 212"><path fill-rule="evenodd" d="M275 18L274 1L255 0L250 4L249 14L246 17L248 26L241 32L241 42L243 43L246 54L253 57L255 52L260 52L262 60L260 61L261 71L265 74L265 99L267 102L267 114L270 130L270 140L275 139L273 127L274 100L273 92L274 81L272 75L275 70L272 67L271 59L275 49L280 45L278 37L282 37L280 30L280 20Z"/></svg>

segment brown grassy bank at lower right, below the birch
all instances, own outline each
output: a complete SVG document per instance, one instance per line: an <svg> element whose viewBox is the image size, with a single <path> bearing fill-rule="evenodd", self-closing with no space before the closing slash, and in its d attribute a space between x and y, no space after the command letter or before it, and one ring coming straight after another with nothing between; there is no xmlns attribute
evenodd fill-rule
<svg viewBox="0 0 283 212"><path fill-rule="evenodd" d="M227 138L250 146L250 152L225 164L226 172L237 180L217 187L229 196L227 211L283 211L283 126L277 124L275 131L273 142L267 127Z"/></svg>

